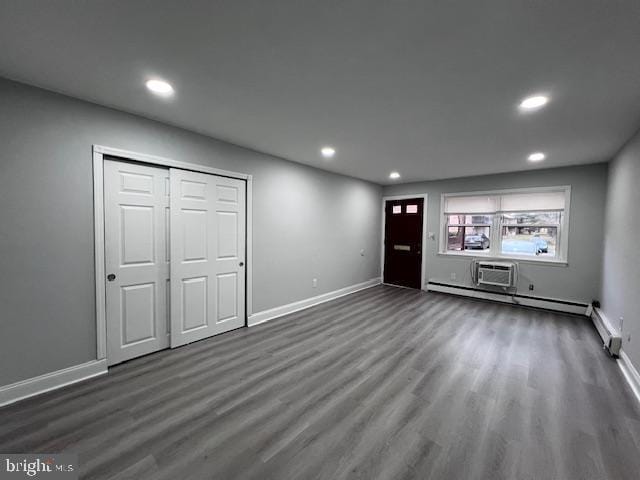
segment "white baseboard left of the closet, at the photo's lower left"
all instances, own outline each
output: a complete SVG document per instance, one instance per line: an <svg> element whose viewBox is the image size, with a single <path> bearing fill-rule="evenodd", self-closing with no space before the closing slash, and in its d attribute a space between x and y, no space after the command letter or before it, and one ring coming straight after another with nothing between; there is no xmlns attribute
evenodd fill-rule
<svg viewBox="0 0 640 480"><path fill-rule="evenodd" d="M80 365L45 373L34 378L0 387L0 407L18 400L56 390L107 373L107 360L92 360Z"/></svg>

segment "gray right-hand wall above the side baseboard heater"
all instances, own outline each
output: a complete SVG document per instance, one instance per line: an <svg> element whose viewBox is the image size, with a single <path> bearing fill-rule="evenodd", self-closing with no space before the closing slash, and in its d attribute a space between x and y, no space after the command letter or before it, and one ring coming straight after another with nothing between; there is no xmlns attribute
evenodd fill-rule
<svg viewBox="0 0 640 480"><path fill-rule="evenodd" d="M602 269L602 309L614 325L622 323L623 348L636 368L640 368L639 244L640 132L609 165Z"/></svg>

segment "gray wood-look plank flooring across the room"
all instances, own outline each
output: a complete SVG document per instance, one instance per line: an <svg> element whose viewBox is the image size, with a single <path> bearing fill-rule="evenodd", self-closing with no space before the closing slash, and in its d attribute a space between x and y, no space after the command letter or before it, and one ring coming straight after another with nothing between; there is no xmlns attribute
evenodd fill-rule
<svg viewBox="0 0 640 480"><path fill-rule="evenodd" d="M638 479L640 408L586 318L387 286L0 409L82 478Z"/></svg>

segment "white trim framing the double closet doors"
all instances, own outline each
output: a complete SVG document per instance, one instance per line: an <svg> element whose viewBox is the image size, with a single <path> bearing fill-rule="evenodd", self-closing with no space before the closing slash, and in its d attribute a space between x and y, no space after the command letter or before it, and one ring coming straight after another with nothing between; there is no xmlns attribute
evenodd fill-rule
<svg viewBox="0 0 640 480"><path fill-rule="evenodd" d="M238 178L247 182L247 213L246 213L246 309L247 318L253 313L253 177L246 173L231 172L219 168L207 167L197 163L179 162L169 158L148 155L146 153L131 152L119 148L93 146L93 223L94 223L94 255L96 272L96 352L97 359L107 358L107 311L105 295L105 251L104 251L104 156L118 157L123 160L133 160L152 165L181 168L194 172L209 173L222 177Z"/></svg>

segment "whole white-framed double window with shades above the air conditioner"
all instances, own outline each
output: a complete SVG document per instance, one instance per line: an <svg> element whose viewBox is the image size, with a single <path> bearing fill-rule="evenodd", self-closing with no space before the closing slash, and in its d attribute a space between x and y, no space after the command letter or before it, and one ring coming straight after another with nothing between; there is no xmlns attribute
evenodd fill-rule
<svg viewBox="0 0 640 480"><path fill-rule="evenodd" d="M566 260L570 187L442 196L441 253Z"/></svg>

